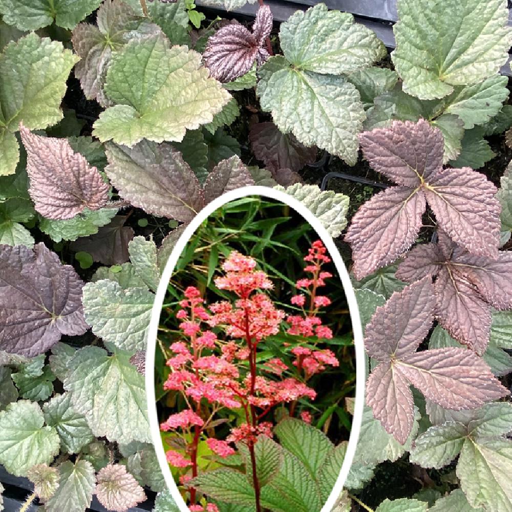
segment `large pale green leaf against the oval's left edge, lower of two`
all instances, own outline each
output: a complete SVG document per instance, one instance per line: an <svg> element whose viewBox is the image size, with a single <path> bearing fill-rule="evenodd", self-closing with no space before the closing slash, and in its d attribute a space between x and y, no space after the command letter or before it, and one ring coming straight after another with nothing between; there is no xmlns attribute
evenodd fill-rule
<svg viewBox="0 0 512 512"><path fill-rule="evenodd" d="M130 364L130 355L115 351L109 356L99 347L80 349L69 363L64 387L96 437L151 442L144 377Z"/></svg>

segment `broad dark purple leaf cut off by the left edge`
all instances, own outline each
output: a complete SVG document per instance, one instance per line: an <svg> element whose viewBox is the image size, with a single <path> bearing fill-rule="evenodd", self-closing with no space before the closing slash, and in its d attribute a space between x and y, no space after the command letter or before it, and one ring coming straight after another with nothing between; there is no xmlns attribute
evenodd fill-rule
<svg viewBox="0 0 512 512"><path fill-rule="evenodd" d="M0 349L34 356L55 345L62 334L79 335L83 282L73 267L39 243L34 250L0 247Z"/></svg>

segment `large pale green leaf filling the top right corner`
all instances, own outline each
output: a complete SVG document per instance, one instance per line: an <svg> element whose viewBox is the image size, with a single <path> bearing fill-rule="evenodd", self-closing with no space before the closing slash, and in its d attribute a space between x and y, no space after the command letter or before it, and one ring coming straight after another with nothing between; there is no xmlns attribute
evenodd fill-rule
<svg viewBox="0 0 512 512"><path fill-rule="evenodd" d="M392 59L409 94L442 98L454 86L494 75L507 61L510 30L502 0L399 0L397 7Z"/></svg>

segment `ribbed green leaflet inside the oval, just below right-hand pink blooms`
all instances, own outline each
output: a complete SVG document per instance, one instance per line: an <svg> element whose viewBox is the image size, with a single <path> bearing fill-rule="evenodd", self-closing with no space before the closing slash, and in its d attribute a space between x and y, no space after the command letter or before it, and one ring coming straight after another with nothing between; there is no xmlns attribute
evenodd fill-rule
<svg viewBox="0 0 512 512"><path fill-rule="evenodd" d="M280 421L275 426L274 433L282 446L306 466L313 478L316 478L327 454L334 447L321 430L294 418Z"/></svg>

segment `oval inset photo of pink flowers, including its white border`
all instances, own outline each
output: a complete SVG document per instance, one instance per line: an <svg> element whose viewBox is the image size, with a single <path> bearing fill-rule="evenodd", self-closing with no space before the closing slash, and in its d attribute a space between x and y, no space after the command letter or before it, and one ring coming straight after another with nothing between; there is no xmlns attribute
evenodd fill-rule
<svg viewBox="0 0 512 512"><path fill-rule="evenodd" d="M331 510L357 443L364 360L349 275L311 212L259 186L208 204L170 253L146 353L176 508Z"/></svg>

